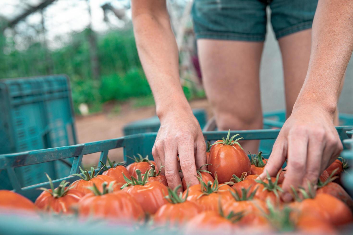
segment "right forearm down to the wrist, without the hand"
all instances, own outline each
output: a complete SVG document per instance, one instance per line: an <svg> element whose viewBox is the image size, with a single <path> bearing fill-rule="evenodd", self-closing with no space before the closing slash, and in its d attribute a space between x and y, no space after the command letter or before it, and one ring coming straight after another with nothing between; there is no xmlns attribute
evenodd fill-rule
<svg viewBox="0 0 353 235"><path fill-rule="evenodd" d="M319 0L312 26L309 69L294 108L313 102L333 115L352 49L353 2Z"/></svg>

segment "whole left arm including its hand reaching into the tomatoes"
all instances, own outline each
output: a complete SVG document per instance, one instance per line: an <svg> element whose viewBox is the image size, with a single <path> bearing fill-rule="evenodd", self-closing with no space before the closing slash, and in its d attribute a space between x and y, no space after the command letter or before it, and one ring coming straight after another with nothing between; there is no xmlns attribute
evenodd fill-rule
<svg viewBox="0 0 353 235"><path fill-rule="evenodd" d="M132 0L134 35L144 72L152 89L161 127L152 149L157 167L164 165L168 185L197 184L196 167L206 163L201 128L181 88L178 47L165 0Z"/></svg>

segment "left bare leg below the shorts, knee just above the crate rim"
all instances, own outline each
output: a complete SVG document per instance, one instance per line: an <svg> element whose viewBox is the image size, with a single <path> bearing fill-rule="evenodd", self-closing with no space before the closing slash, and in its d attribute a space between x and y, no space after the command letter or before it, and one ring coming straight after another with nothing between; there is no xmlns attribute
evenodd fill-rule
<svg viewBox="0 0 353 235"><path fill-rule="evenodd" d="M262 42L198 39L206 95L219 130L262 129L259 67ZM259 141L242 143L258 151Z"/></svg>

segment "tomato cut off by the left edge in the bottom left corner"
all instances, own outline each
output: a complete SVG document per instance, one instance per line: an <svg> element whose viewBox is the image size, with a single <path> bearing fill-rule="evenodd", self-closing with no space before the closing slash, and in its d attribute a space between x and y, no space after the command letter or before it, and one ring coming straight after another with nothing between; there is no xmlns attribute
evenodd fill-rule
<svg viewBox="0 0 353 235"><path fill-rule="evenodd" d="M31 200L24 196L9 191L0 190L0 210L23 210L23 211L35 211L36 207Z"/></svg>

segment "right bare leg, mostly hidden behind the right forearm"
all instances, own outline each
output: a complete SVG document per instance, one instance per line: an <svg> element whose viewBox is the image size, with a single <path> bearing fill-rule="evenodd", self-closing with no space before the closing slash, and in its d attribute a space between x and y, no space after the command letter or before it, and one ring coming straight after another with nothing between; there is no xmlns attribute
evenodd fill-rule
<svg viewBox="0 0 353 235"><path fill-rule="evenodd" d="M297 100L300 89L304 84L309 66L311 29L282 37L278 42L282 52L288 118L291 116L295 100ZM338 111L335 113L334 123L338 125Z"/></svg>

